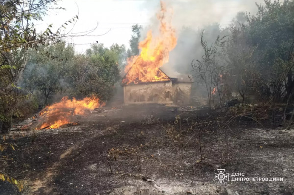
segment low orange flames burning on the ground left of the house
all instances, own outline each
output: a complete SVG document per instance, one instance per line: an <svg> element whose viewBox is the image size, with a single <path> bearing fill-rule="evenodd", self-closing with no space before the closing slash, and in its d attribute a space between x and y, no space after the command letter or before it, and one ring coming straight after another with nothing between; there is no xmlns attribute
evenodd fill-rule
<svg viewBox="0 0 294 195"><path fill-rule="evenodd" d="M105 103L100 103L96 97L86 97L83 100L68 99L63 97L58 103L47 106L40 112L40 116L45 119L40 128L37 129L54 129L62 125L72 123L71 117L73 115L84 115L86 110L94 110ZM72 123L76 125L76 123Z"/></svg>

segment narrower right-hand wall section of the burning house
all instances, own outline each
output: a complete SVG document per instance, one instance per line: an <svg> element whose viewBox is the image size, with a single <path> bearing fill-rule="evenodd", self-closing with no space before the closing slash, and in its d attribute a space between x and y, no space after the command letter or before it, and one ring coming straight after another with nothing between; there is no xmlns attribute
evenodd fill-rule
<svg viewBox="0 0 294 195"><path fill-rule="evenodd" d="M189 104L192 83L176 82L172 86L173 103L177 105Z"/></svg>

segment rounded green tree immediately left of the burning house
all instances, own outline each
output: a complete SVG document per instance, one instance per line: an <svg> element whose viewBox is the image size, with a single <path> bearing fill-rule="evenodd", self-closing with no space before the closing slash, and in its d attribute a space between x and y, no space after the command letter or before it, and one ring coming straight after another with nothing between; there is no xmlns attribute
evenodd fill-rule
<svg viewBox="0 0 294 195"><path fill-rule="evenodd" d="M69 72L75 95L95 95L102 101L110 99L119 79L118 60L117 53L101 45L92 45L86 55L76 56Z"/></svg>

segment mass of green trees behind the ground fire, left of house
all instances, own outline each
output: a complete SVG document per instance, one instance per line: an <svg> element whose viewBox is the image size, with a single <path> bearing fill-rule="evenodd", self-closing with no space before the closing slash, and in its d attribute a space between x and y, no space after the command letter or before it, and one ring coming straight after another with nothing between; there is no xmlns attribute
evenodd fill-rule
<svg viewBox="0 0 294 195"><path fill-rule="evenodd" d="M27 93L42 94L38 102L47 104L51 97L82 98L96 95L108 100L119 79L118 62L125 61L125 47L114 44L109 48L94 44L85 55L75 55L72 45L60 42L30 51L23 88Z"/></svg>

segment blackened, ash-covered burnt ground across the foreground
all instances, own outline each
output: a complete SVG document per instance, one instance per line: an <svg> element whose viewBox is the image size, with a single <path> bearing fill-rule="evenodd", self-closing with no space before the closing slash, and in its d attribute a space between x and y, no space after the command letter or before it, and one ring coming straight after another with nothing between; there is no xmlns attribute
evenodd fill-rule
<svg viewBox="0 0 294 195"><path fill-rule="evenodd" d="M11 131L6 142L16 150L0 153L13 158L0 160L0 173L24 189L0 182L0 195L293 195L294 128L272 129L246 117L228 124L230 117L129 105L99 108L75 126ZM283 181L217 185L217 169Z"/></svg>

